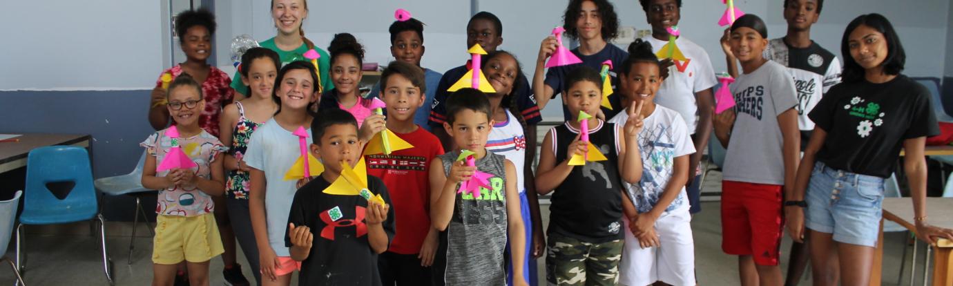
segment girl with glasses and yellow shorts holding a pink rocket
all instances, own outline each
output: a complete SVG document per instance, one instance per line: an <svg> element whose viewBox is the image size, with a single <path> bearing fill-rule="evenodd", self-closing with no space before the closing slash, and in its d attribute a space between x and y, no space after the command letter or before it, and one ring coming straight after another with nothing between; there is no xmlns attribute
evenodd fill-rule
<svg viewBox="0 0 953 286"><path fill-rule="evenodd" d="M150 154L142 167L142 185L159 190L160 198L152 240L152 285L172 285L176 267L183 260L189 267L192 285L209 285L209 260L224 252L215 217L210 213L215 207L212 195L221 195L224 190L221 153L228 149L198 125L205 101L202 87L192 76L176 77L166 100L178 138L161 130L139 143ZM156 173L156 166L173 146L189 155L198 167Z"/></svg>

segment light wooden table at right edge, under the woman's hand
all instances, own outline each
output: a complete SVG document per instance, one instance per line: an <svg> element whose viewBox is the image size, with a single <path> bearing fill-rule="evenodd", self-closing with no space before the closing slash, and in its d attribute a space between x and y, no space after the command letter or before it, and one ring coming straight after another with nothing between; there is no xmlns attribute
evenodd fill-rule
<svg viewBox="0 0 953 286"><path fill-rule="evenodd" d="M926 216L928 217L927 221L931 225L953 229L953 197L927 197L926 212ZM896 222L916 234L917 228L912 222L914 216L913 202L909 197L883 198L883 219ZM920 235L917 235L917 237L919 239ZM877 251L874 255L874 269L871 271L870 285L881 285L883 220L881 220L881 233L877 241ZM933 246L934 286L953 285L953 255L951 255L951 253L953 253L953 241L940 239L937 245Z"/></svg>

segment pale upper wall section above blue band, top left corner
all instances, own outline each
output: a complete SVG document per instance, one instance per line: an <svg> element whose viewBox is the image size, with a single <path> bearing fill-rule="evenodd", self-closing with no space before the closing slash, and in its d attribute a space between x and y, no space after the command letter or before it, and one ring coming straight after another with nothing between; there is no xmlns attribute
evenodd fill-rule
<svg viewBox="0 0 953 286"><path fill-rule="evenodd" d="M150 87L160 14L159 1L0 1L0 90Z"/></svg>

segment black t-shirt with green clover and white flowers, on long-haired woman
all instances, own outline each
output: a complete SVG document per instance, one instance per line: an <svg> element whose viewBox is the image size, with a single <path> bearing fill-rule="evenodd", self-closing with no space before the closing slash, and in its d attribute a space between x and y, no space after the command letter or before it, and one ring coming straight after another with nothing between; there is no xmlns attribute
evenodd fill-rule
<svg viewBox="0 0 953 286"><path fill-rule="evenodd" d="M810 117L827 132L819 161L880 177L893 174L904 139L940 133L930 93L902 74L882 84L838 84L824 94Z"/></svg>

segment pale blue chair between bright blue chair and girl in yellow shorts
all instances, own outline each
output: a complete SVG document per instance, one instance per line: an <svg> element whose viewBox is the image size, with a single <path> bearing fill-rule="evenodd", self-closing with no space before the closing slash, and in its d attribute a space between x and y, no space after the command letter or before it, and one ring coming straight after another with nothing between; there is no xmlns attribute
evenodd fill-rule
<svg viewBox="0 0 953 286"><path fill-rule="evenodd" d="M102 192L103 194L109 195L123 195L130 194L135 197L135 212L132 217L132 235L129 238L129 264L132 265L132 248L134 247L133 242L135 241L135 227L139 223L139 215L141 214L145 220L146 227L149 229L149 233L155 235L152 231L152 225L149 223L148 218L146 218L146 210L142 208L141 197L143 194L149 194L155 192L154 190L146 189L142 186L142 166L146 162L146 153L143 152L139 156L139 162L135 164L135 168L130 174L122 174L110 177L99 178L93 181L93 185L96 186L96 190Z"/></svg>

